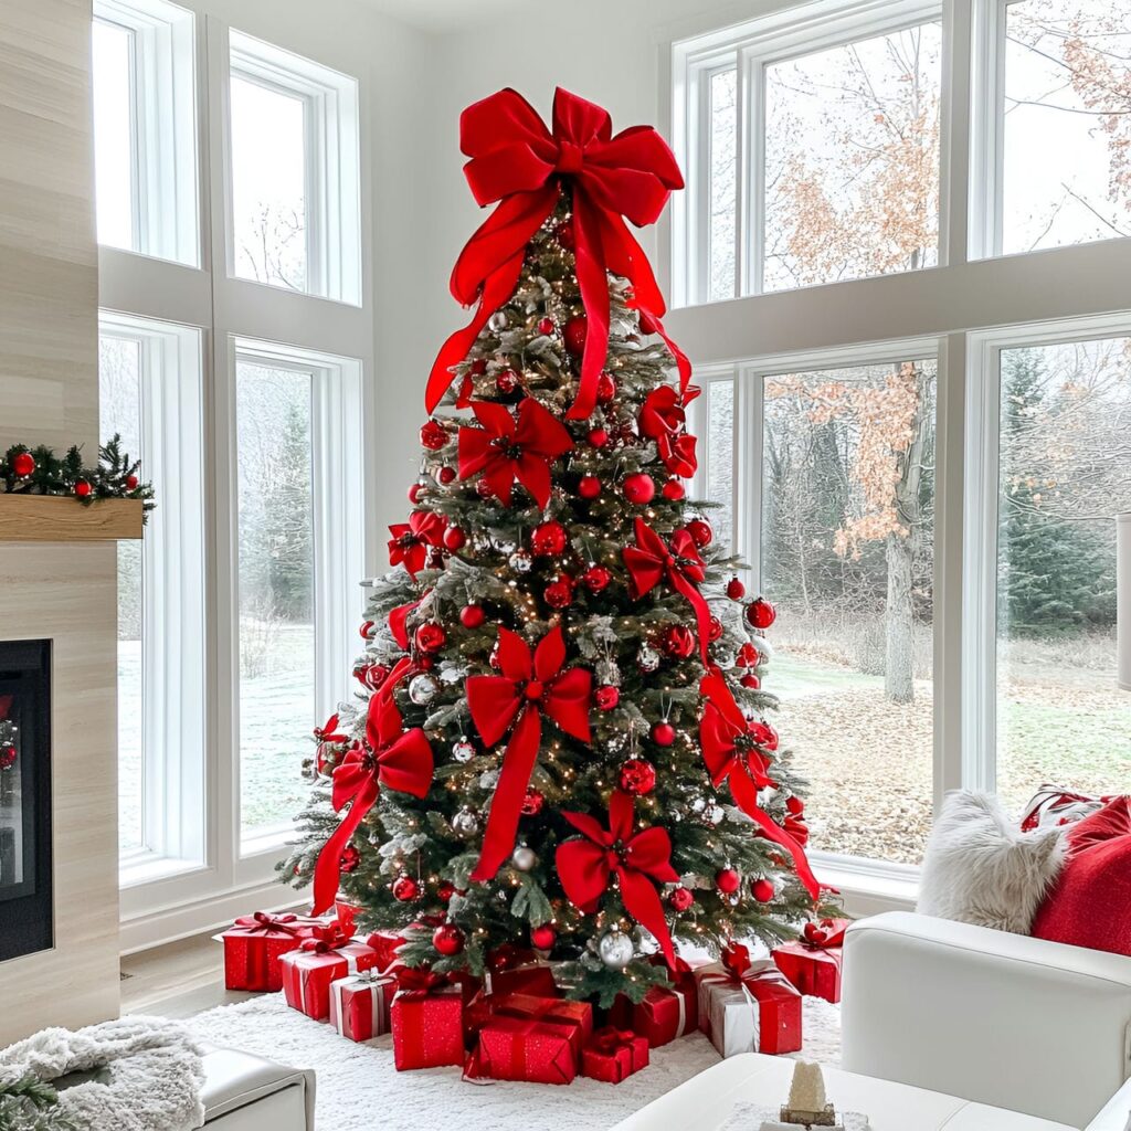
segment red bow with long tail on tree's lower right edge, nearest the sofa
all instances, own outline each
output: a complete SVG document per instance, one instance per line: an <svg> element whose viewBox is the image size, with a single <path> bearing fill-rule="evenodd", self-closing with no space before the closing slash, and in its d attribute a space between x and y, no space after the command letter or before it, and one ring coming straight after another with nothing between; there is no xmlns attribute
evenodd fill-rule
<svg viewBox="0 0 1131 1131"><path fill-rule="evenodd" d="M765 731L774 735L776 745L777 735L774 728L763 723L751 723L742 714L718 667L711 668L699 681L699 693L707 700L702 723L699 726L699 741L711 780L716 787L723 782L729 784L735 805L758 826L762 836L789 853L797 870L797 878L813 899L817 899L821 886L813 875L805 849L758 804L758 789L762 785L775 783L766 774L768 759L758 752L757 743L753 745L748 743L762 737ZM740 749L740 741L743 739L748 741L743 743L743 749Z"/></svg>

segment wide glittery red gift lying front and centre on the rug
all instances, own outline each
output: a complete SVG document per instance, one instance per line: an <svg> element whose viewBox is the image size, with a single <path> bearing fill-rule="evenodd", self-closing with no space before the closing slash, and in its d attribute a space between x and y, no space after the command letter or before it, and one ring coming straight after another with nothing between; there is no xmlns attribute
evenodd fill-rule
<svg viewBox="0 0 1131 1131"><path fill-rule="evenodd" d="M580 1060L577 1034L575 1026L545 1017L491 1017L480 1029L466 1076L572 1083Z"/></svg>

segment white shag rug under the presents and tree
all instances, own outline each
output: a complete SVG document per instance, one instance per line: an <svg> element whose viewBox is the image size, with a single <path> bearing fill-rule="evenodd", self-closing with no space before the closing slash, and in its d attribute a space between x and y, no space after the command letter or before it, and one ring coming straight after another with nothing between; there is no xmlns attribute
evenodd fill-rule
<svg viewBox="0 0 1131 1131"><path fill-rule="evenodd" d="M796 1056L836 1064L840 1059L840 1010L819 998L804 999L805 1047ZM329 1025L290 1009L282 994L221 1005L188 1022L199 1041L243 1048L318 1073L319 1128L374 1131L400 1126L441 1131L530 1131L560 1126L606 1131L657 1096L718 1062L700 1033L654 1048L648 1068L619 1085L579 1076L569 1087L493 1081L476 1086L457 1068L398 1072L392 1038L365 1044L346 1041ZM533 1119L532 1119L533 1116Z"/></svg>

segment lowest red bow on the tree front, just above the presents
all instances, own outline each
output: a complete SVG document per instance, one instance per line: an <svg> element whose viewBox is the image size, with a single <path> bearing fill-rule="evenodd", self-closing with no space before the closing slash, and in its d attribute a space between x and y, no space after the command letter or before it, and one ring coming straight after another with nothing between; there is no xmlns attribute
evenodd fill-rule
<svg viewBox="0 0 1131 1131"><path fill-rule="evenodd" d="M664 905L653 884L654 880L680 882L672 867L667 831L653 826L633 834L632 798L620 789L614 789L608 798L607 829L588 813L563 812L562 817L585 838L558 846L558 875L569 901L592 915L615 875L624 909L655 935L668 966L674 966L675 948L664 918Z"/></svg>

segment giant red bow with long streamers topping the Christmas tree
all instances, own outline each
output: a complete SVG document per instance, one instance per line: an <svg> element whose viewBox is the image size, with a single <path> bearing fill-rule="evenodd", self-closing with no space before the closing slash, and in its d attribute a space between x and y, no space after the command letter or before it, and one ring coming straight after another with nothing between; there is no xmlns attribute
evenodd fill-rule
<svg viewBox="0 0 1131 1131"><path fill-rule="evenodd" d="M691 363L664 333L664 297L651 267L622 219L638 227L658 219L683 178L672 150L651 128L636 126L612 136L608 113L560 87L554 93L553 132L516 90L504 89L468 106L459 120L464 166L481 206L499 207L468 241L451 274L451 293L475 317L443 344L432 365L425 404L432 412L487 319L511 296L526 244L558 204L559 182L570 187L573 240L588 335L577 399L567 414L586 420L597 402L597 381L608 353L608 276L632 284L632 305L646 333L661 335L675 357L681 385Z"/></svg>

